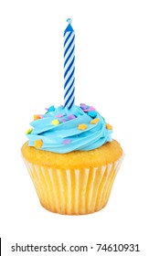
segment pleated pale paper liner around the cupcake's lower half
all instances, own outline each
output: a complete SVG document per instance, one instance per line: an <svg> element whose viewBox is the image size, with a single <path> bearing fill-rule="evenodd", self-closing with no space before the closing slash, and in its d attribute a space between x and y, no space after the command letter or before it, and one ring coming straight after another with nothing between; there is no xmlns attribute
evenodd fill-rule
<svg viewBox="0 0 149 256"><path fill-rule="evenodd" d="M52 169L34 165L25 158L28 173L41 205L59 214L89 214L104 208L122 158L98 167Z"/></svg>

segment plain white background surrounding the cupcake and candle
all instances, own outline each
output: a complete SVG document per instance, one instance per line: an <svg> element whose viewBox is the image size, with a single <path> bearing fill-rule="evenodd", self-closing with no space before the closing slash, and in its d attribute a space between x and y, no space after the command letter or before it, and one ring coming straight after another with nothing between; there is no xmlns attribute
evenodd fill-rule
<svg viewBox="0 0 149 256"><path fill-rule="evenodd" d="M125 152L107 207L78 217L40 207L20 154L32 116L63 103L68 17L76 33L76 104L96 107ZM94 247L69 255L148 255L148 86L148 1L0 1L2 255L25 255L10 251L16 242ZM141 252L100 254L96 243L138 243Z"/></svg>

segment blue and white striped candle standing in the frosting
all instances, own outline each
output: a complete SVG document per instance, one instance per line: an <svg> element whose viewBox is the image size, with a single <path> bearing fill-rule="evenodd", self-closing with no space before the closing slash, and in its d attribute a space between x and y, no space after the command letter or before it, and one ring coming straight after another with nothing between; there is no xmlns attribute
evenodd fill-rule
<svg viewBox="0 0 149 256"><path fill-rule="evenodd" d="M70 109L75 101L75 33L71 19L67 21L69 25L64 31L64 106Z"/></svg>

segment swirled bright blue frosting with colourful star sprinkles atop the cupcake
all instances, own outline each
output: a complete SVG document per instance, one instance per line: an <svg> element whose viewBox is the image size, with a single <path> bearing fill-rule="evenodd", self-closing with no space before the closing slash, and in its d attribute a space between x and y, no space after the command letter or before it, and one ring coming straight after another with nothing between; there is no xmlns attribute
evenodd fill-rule
<svg viewBox="0 0 149 256"><path fill-rule="evenodd" d="M34 116L27 130L29 146L59 154L88 151L112 141L112 126L93 107L86 104L51 106L45 114Z"/></svg>

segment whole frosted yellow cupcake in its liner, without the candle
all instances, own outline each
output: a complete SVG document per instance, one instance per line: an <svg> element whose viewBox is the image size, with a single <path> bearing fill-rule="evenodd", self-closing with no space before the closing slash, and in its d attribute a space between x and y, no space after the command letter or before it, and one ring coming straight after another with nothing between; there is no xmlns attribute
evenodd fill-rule
<svg viewBox="0 0 149 256"><path fill-rule="evenodd" d="M122 163L112 125L84 103L51 106L30 125L22 156L41 205L66 215L104 208Z"/></svg>

